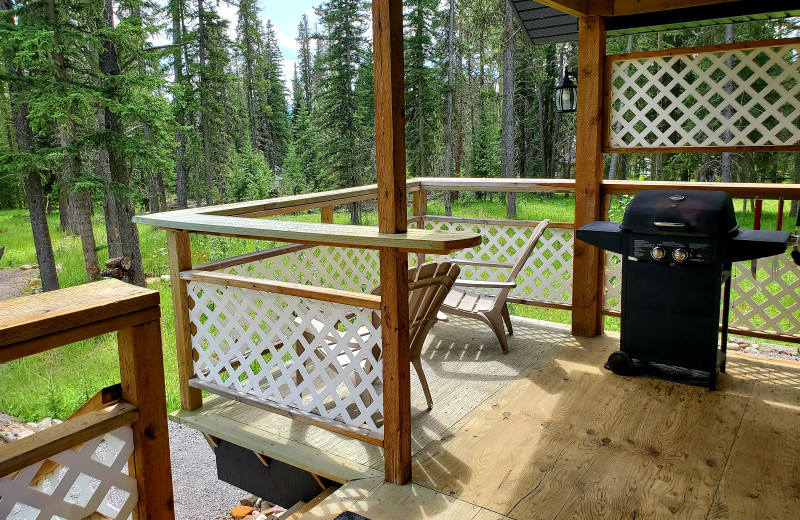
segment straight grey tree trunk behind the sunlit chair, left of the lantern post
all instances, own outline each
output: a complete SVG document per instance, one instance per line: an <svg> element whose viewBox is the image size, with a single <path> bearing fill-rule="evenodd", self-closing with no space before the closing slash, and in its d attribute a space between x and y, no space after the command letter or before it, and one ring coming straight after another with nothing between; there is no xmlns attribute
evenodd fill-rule
<svg viewBox="0 0 800 520"><path fill-rule="evenodd" d="M503 69L503 126L501 163L503 177L511 179L514 175L514 8L511 0L506 0L505 67ZM517 218L517 194L509 192L506 197L506 218Z"/></svg>

